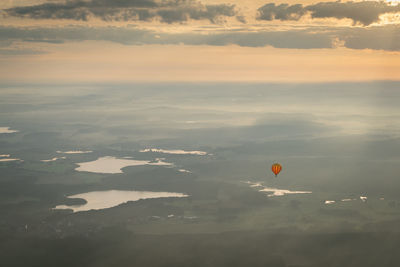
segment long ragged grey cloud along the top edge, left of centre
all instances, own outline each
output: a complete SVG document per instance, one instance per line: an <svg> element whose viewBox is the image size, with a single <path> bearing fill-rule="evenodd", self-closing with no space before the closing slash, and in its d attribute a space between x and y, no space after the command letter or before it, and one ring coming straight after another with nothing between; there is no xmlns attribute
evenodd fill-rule
<svg viewBox="0 0 400 267"><path fill-rule="evenodd" d="M150 21L165 23L209 20L237 15L235 5L204 5L195 0L68 0L3 10L8 16L33 19L71 19L87 21L96 17L104 21ZM240 18L240 17L239 17Z"/></svg>

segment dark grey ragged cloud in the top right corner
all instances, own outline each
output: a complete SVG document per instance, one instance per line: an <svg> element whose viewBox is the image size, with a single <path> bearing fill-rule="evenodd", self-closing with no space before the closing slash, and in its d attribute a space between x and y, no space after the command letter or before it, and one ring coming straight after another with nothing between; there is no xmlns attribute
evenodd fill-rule
<svg viewBox="0 0 400 267"><path fill-rule="evenodd" d="M266 4L258 9L259 20L298 20L310 13L312 18L351 19L354 23L370 25L379 21L385 13L400 12L400 5L391 6L386 2L321 2L314 5Z"/></svg>

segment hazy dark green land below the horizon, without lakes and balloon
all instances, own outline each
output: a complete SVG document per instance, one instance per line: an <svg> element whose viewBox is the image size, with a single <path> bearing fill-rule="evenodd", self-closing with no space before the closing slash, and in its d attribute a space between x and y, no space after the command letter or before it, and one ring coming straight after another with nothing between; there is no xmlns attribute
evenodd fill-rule
<svg viewBox="0 0 400 267"><path fill-rule="evenodd" d="M23 161L0 162L1 265L398 266L399 85L3 86L0 154ZM41 161L60 150L93 152ZM174 166L76 170L104 156ZM53 209L99 190L189 197Z"/></svg>

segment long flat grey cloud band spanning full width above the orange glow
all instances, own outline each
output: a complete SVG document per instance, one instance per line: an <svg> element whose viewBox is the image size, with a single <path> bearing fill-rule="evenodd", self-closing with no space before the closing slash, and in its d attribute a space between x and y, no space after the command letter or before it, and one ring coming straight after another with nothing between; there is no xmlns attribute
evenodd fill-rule
<svg viewBox="0 0 400 267"><path fill-rule="evenodd" d="M0 42L111 41L125 45L185 44L313 49L333 48L343 43L352 49L400 51L400 28L387 25L370 28L321 28L288 31L224 31L218 33L157 33L116 27L16 28L0 27ZM339 40L339 42L338 42Z"/></svg>

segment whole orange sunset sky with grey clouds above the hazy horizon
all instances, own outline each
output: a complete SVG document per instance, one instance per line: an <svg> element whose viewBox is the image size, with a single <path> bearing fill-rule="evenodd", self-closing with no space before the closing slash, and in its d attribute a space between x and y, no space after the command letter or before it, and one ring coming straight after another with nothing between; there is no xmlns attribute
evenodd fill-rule
<svg viewBox="0 0 400 267"><path fill-rule="evenodd" d="M0 3L3 83L399 77L399 1Z"/></svg>

